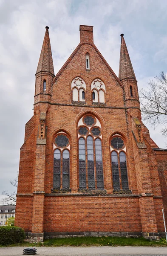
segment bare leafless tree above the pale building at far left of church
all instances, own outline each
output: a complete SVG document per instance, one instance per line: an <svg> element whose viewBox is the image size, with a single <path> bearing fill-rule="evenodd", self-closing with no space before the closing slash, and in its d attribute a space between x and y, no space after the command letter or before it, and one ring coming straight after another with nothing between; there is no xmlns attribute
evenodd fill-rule
<svg viewBox="0 0 167 256"><path fill-rule="evenodd" d="M15 186L17 188L18 177L14 180L10 180L10 183L11 183L12 186ZM16 205L16 193L17 193L17 191L9 193L7 190L4 190L2 192L2 195L5 195L6 197L1 199L0 204Z"/></svg>

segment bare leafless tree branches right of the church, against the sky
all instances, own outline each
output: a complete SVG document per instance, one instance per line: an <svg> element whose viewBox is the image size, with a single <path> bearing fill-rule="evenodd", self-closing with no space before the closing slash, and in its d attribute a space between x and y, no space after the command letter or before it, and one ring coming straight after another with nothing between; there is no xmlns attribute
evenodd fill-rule
<svg viewBox="0 0 167 256"><path fill-rule="evenodd" d="M167 137L167 76L162 71L150 80L147 90L140 90L143 119L153 125L163 125L162 135Z"/></svg>

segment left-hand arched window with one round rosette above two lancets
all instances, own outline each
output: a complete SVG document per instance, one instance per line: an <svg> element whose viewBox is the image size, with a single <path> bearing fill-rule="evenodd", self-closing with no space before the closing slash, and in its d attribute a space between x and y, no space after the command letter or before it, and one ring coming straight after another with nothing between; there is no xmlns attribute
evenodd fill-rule
<svg viewBox="0 0 167 256"><path fill-rule="evenodd" d="M54 188L70 187L70 141L65 134L54 139Z"/></svg>

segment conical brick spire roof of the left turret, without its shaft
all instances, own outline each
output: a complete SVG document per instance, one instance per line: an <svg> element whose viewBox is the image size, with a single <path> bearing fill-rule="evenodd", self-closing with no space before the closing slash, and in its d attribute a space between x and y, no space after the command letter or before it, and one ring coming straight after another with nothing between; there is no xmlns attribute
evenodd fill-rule
<svg viewBox="0 0 167 256"><path fill-rule="evenodd" d="M54 64L52 59L52 53L51 53L51 43L49 38L49 27L45 27L45 37L42 44L41 54L40 54L40 60L38 62L37 67L37 73L39 72L50 72L54 75Z"/></svg>

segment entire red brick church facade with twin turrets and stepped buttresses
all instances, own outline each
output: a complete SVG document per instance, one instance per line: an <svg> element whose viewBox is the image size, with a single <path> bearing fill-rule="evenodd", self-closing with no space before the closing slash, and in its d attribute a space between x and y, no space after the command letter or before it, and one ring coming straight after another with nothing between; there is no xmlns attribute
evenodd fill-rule
<svg viewBox="0 0 167 256"><path fill-rule="evenodd" d="M20 152L15 224L34 241L57 235L159 236L167 216L167 151L142 123L121 35L119 77L80 25L80 43L54 75L46 27L34 116Z"/></svg>

